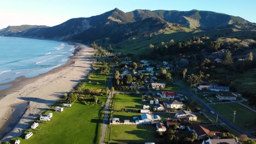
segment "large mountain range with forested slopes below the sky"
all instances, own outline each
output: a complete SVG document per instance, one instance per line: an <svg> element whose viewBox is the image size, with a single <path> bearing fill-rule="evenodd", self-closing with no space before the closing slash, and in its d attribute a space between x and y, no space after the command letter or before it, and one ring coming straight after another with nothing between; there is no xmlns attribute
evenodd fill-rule
<svg viewBox="0 0 256 144"><path fill-rule="evenodd" d="M160 25L164 22L172 28L170 26L147 27L149 23L155 23L156 20ZM144 28L144 25L147 28ZM135 28L135 26L139 26L141 30L138 32L138 28ZM161 33L191 32L198 29L210 31L226 28L235 28L238 31L256 29L255 23L251 23L241 17L212 11L151 11L137 9L124 13L124 11L116 8L101 15L70 19L54 27L26 29L25 31L8 35L40 39L74 40L82 43L108 39L109 42L113 43L117 39L109 37L106 32L111 31L110 35L120 34L118 41L122 41L131 38L127 37L127 35L131 34L138 34L134 35L135 37L145 37L145 35L151 37ZM88 38L92 36L94 38Z"/></svg>

